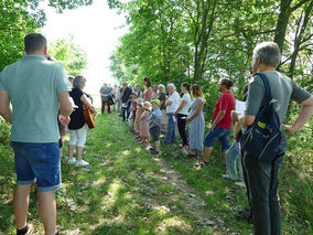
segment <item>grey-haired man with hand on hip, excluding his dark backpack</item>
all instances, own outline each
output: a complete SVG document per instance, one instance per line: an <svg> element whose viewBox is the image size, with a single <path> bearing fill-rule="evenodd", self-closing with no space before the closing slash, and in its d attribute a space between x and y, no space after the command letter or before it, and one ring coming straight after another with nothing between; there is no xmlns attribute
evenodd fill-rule
<svg viewBox="0 0 313 235"><path fill-rule="evenodd" d="M255 234L280 234L280 205L278 196L278 181L281 163L287 151L285 133L296 132L313 113L313 96L298 86L291 78L276 71L280 64L281 53L277 43L265 42L256 46L252 56L252 70L262 73L268 79L271 89L274 110L281 125L279 151L272 160L263 161L255 152L244 151L244 165L247 172L252 207ZM249 84L247 108L242 117L244 125L253 125L259 110L266 105L266 88L261 75L255 75ZM301 104L301 111L291 125L283 125L289 102ZM260 121L259 126L263 126ZM263 126L265 128L267 126ZM253 137L252 137L253 138ZM247 143L249 145L249 143ZM246 148L245 148L246 149Z"/></svg>

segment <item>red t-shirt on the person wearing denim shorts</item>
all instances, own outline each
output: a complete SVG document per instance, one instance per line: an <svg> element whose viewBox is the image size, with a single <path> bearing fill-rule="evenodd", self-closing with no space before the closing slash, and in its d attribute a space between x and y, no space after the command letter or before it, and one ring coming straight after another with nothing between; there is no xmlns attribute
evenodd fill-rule
<svg viewBox="0 0 313 235"><path fill-rule="evenodd" d="M231 117L230 111L235 108L235 97L230 90L224 93L217 100L215 109L213 111L213 121L217 117L219 110L226 110L224 118L217 124L218 127L224 129L231 128Z"/></svg>

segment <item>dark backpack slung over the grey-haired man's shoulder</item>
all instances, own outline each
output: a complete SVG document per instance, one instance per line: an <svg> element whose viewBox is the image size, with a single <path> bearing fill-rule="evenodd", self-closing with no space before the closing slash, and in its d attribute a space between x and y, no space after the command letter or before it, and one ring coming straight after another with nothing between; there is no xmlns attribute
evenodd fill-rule
<svg viewBox="0 0 313 235"><path fill-rule="evenodd" d="M280 120L274 110L269 81L265 74L259 75L265 84L266 104L256 116L255 122L246 130L240 139L241 151L250 156L272 163L280 150Z"/></svg>

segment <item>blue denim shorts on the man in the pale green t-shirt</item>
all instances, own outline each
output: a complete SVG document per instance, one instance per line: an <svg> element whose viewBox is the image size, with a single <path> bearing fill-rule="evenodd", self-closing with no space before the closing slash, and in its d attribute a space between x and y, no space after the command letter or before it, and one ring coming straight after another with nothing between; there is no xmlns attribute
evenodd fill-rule
<svg viewBox="0 0 313 235"><path fill-rule="evenodd" d="M61 159L57 142L11 142L18 185L37 183L39 192L61 186Z"/></svg>

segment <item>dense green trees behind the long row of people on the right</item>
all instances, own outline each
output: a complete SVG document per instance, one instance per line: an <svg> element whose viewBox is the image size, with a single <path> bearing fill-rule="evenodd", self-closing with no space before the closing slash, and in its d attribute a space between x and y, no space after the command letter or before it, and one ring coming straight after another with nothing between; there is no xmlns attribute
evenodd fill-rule
<svg viewBox="0 0 313 235"><path fill-rule="evenodd" d="M252 49L281 33L285 45L280 70L312 84L312 21L307 20L312 1L290 1L287 34L276 30L283 22L274 0L109 0L108 4L126 12L129 25L111 56L110 70L119 81L136 83L149 76L153 83L180 84L223 77L235 81L240 97L249 79Z"/></svg>

